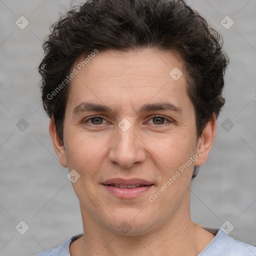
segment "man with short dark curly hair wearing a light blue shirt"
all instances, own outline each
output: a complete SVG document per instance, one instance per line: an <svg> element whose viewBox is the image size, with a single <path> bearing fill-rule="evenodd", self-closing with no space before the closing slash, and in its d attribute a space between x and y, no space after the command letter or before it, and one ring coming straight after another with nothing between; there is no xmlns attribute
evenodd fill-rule
<svg viewBox="0 0 256 256"><path fill-rule="evenodd" d="M38 255L255 255L190 217L224 104L219 38L182 0L91 0L53 26L42 101L83 234Z"/></svg>

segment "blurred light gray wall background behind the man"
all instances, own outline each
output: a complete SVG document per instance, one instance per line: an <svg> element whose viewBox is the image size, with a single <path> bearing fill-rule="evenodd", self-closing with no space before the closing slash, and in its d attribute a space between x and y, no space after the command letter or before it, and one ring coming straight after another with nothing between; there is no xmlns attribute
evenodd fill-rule
<svg viewBox="0 0 256 256"><path fill-rule="evenodd" d="M256 1L188 3L223 35L230 56L226 103L215 142L192 184L192 219L210 227L228 220L234 226L230 236L256 245ZM49 26L70 4L68 0L0 0L0 255L33 255L82 232L68 170L56 159L48 134L36 69ZM24 29L15 24L21 15L29 21ZM234 21L229 29L220 23L226 15ZM230 20L224 22L230 25ZM16 126L21 118L28 123L23 131ZM23 235L15 229L21 220L29 226Z"/></svg>

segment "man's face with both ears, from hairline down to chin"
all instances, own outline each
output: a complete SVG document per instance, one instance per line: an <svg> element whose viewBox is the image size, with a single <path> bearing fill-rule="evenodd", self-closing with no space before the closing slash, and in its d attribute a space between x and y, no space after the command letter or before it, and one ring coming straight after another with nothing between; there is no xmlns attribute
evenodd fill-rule
<svg viewBox="0 0 256 256"><path fill-rule="evenodd" d="M61 164L79 176L72 185L83 219L134 235L184 217L193 168L207 158L215 123L197 139L181 61L150 49L107 50L77 70L64 146L52 123L50 133Z"/></svg>

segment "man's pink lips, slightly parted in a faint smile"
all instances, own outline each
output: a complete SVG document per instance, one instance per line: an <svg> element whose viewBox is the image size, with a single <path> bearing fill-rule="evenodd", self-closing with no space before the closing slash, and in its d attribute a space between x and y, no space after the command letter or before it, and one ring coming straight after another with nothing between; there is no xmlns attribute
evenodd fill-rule
<svg viewBox="0 0 256 256"><path fill-rule="evenodd" d="M123 185L133 185L133 184L142 184L144 186L138 186L134 188L119 188L115 186L110 186L110 184L123 184ZM106 190L115 197L122 199L132 199L139 197L146 191L148 191L153 184L145 179L140 178L131 178L131 179L123 179L123 178L111 178L105 180L102 185L106 188Z"/></svg>

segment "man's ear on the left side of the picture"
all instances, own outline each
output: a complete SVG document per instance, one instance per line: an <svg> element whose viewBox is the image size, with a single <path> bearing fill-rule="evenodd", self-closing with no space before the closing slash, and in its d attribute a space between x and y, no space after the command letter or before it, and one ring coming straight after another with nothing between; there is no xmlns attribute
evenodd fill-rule
<svg viewBox="0 0 256 256"><path fill-rule="evenodd" d="M50 118L49 132L55 153L58 156L60 164L63 167L67 167L64 145L62 144L62 141L58 136L56 125L52 117Z"/></svg>

